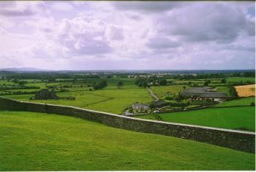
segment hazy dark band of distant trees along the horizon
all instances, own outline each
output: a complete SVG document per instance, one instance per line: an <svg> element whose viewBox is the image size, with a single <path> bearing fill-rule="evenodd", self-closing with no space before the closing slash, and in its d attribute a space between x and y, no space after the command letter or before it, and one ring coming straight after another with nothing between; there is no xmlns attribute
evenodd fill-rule
<svg viewBox="0 0 256 172"><path fill-rule="evenodd" d="M157 72L157 71L156 71ZM255 71L216 71L206 73L204 71L193 71L196 75L190 74L191 71L171 72L173 74L165 75L167 79L179 80L196 80L210 78L226 78L226 77L245 77L255 78ZM140 75L152 75L157 77L157 74L152 72L0 72L0 76L7 79L39 79L39 80L54 80L54 79L78 79L78 78L140 78Z"/></svg>

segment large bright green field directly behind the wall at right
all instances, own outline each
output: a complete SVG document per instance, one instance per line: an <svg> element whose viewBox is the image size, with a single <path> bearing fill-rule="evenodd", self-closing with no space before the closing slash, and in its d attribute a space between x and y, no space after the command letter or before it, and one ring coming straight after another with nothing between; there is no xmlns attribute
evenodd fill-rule
<svg viewBox="0 0 256 172"><path fill-rule="evenodd" d="M154 120L152 114L138 117ZM255 107L252 106L173 112L160 114L160 117L172 123L255 131Z"/></svg>

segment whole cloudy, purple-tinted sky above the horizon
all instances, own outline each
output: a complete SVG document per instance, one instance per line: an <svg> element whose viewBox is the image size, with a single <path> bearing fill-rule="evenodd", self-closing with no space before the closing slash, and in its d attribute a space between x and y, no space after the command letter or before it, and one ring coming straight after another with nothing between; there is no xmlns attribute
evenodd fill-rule
<svg viewBox="0 0 256 172"><path fill-rule="evenodd" d="M254 1L0 1L0 68L255 69Z"/></svg>

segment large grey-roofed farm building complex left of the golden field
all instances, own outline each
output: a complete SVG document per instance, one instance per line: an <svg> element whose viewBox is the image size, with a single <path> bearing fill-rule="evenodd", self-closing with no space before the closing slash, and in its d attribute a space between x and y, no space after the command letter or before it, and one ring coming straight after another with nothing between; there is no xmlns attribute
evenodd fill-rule
<svg viewBox="0 0 256 172"><path fill-rule="evenodd" d="M217 92L215 89L211 89L209 86L203 87L191 87L183 92L180 92L183 97L190 97L191 100L226 100L227 94L225 92Z"/></svg>

